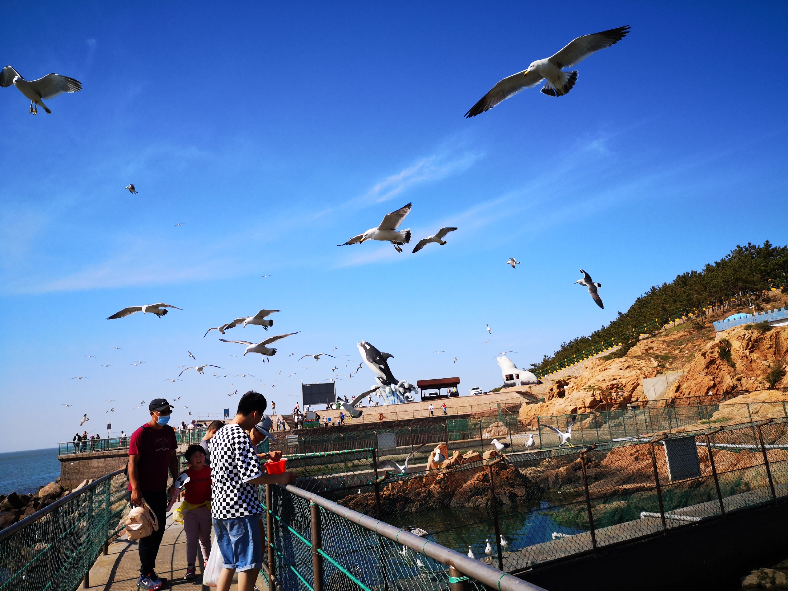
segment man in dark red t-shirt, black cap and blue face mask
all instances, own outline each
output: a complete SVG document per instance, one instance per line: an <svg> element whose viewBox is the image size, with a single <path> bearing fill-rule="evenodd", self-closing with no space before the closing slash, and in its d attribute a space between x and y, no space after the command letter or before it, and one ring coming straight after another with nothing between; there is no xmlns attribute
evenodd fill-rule
<svg viewBox="0 0 788 591"><path fill-rule="evenodd" d="M151 400L148 405L151 421L132 433L128 444L129 501L133 507L142 505L145 500L158 519L158 531L139 539L137 586L153 591L164 585L154 568L164 535L167 501L173 492L172 487L169 491L167 489L167 470L173 479L178 476L175 429L167 425L172 409L172 405L163 398Z"/></svg>

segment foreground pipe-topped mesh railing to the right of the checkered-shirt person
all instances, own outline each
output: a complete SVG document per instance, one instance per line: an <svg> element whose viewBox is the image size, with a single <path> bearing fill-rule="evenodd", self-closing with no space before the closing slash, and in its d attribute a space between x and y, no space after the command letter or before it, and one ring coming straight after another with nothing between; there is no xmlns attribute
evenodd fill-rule
<svg viewBox="0 0 788 591"><path fill-rule="evenodd" d="M489 585L500 591L542 591L314 492L266 485L260 494L267 516L269 589L481 591Z"/></svg>

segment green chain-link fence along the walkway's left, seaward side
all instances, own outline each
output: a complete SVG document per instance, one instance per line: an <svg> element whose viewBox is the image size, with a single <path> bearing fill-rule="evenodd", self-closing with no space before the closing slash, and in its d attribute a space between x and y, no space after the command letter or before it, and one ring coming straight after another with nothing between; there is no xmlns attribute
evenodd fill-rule
<svg viewBox="0 0 788 591"><path fill-rule="evenodd" d="M0 591L72 591L128 510L122 470L0 531Z"/></svg>

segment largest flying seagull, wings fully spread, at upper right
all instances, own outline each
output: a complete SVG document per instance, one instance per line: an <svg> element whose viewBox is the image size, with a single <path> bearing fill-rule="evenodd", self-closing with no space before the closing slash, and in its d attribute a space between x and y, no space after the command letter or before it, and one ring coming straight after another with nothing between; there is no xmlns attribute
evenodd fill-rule
<svg viewBox="0 0 788 591"><path fill-rule="evenodd" d="M563 68L571 68L594 52L615 45L626 37L629 29L629 26L626 26L611 28L608 31L591 35L582 35L550 58L533 61L527 69L504 78L492 87L486 95L481 97L479 102L470 107L470 110L465 113L465 117L475 117L479 113L484 113L511 95L516 95L522 89L537 86L542 80L545 80L545 86L542 87L541 92L545 95L566 95L574 87L574 83L578 79L578 72L564 72Z"/></svg>

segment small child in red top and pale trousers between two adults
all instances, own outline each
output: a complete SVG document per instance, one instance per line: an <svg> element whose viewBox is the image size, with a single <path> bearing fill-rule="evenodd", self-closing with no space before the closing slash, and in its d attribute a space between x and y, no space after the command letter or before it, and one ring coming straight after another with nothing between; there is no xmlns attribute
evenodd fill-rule
<svg viewBox="0 0 788 591"><path fill-rule="evenodd" d="M201 445L190 445L184 453L189 464L186 474L189 477L185 485L186 500L180 504L176 513L184 524L186 532L186 578L195 578L195 559L197 544L203 551L203 559L208 563L210 553L210 531L213 522L210 519L210 466L205 463L205 450Z"/></svg>

